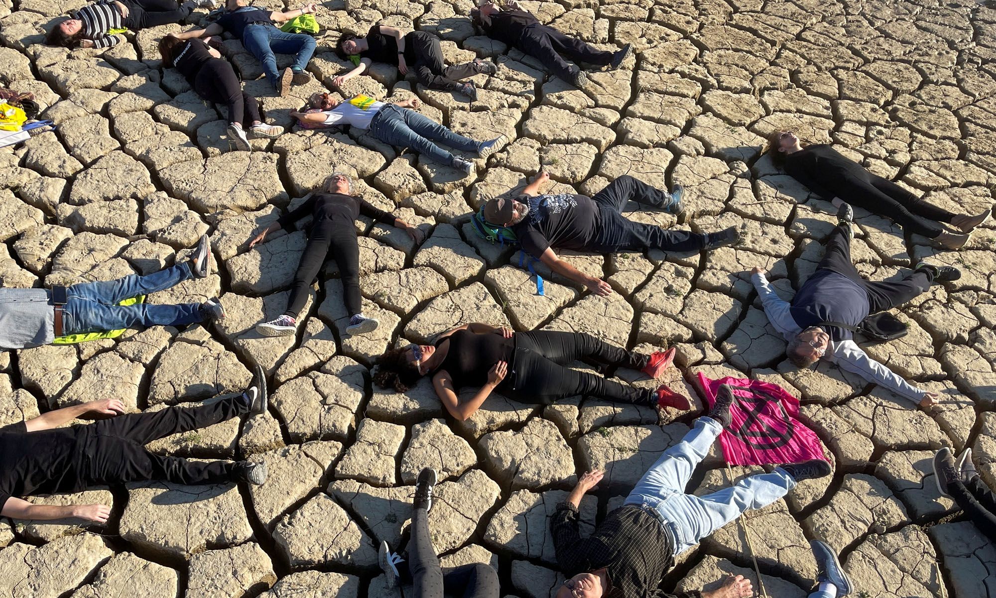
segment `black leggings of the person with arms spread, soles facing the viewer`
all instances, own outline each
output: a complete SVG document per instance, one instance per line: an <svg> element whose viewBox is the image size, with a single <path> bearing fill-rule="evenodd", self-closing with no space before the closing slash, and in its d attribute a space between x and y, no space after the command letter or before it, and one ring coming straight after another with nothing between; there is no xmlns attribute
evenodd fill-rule
<svg viewBox="0 0 996 598"><path fill-rule="evenodd" d="M363 303L360 298L360 244L357 242L357 229L353 224L316 222L308 234L308 244L301 255L298 270L294 273L285 315L296 319L301 313L308 302L308 287L318 278L322 264L330 252L343 277L346 310L350 312L350 316L361 312Z"/></svg>

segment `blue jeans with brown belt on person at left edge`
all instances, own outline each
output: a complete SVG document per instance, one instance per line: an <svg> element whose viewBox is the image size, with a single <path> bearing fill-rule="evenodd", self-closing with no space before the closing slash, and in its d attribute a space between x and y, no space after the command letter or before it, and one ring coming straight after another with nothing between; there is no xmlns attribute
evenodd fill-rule
<svg viewBox="0 0 996 598"><path fill-rule="evenodd" d="M131 274L118 280L74 284L66 293L63 334L200 322L204 316L199 303L118 305L130 297L162 291L192 277L189 262L183 262L148 276Z"/></svg>

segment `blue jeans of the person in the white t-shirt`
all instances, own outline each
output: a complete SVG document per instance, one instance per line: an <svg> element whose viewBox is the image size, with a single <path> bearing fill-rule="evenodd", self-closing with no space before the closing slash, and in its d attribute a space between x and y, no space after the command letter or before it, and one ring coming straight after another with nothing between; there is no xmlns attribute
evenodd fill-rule
<svg viewBox="0 0 996 598"><path fill-rule="evenodd" d="M464 151L477 151L481 148L481 145L474 140L456 135L413 110L398 108L393 104L387 104L373 115L371 134L385 144L414 149L424 153L432 161L446 166L454 165L453 160L456 156L433 142L440 142L450 148Z"/></svg>

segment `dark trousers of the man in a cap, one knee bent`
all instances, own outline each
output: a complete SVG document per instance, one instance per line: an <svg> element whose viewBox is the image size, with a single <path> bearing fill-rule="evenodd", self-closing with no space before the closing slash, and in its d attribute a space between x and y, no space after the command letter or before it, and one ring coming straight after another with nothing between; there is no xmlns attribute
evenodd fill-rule
<svg viewBox="0 0 996 598"><path fill-rule="evenodd" d="M627 249L662 249L692 251L705 247L704 234L686 230L667 230L655 224L633 222L622 215L622 208L632 200L660 207L664 193L641 180L623 174L596 193L592 199L599 204L601 226L592 251L613 253Z"/></svg>

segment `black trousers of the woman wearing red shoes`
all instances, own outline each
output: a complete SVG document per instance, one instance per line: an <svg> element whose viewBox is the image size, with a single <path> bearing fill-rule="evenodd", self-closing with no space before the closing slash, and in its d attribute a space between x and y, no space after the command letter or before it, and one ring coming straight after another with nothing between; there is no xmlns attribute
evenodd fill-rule
<svg viewBox="0 0 996 598"><path fill-rule="evenodd" d="M650 390L624 386L597 374L566 367L580 359L641 370L649 358L585 333L517 332L511 384L506 378L498 390L523 403L546 405L567 397L588 395L606 401L651 404Z"/></svg>

